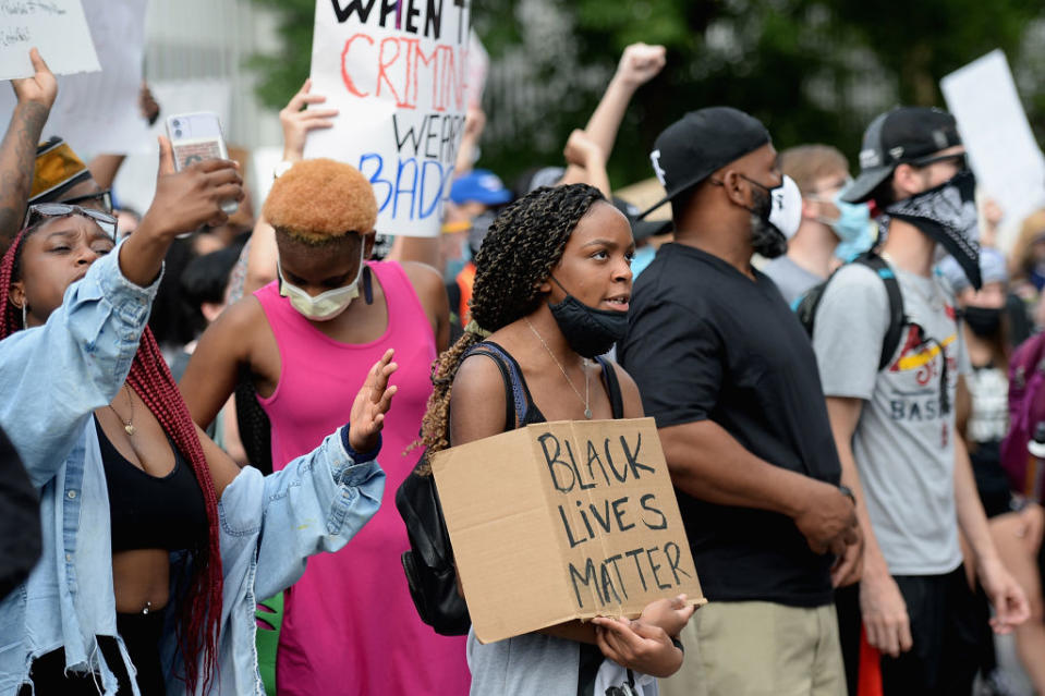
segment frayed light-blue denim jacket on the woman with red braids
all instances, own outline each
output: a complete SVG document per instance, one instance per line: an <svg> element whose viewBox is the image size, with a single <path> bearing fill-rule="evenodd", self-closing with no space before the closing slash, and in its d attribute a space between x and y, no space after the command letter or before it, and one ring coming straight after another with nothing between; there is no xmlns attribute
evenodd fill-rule
<svg viewBox="0 0 1045 696"><path fill-rule="evenodd" d="M45 326L0 341L0 426L40 491L44 537L40 562L0 602L0 696L16 694L33 660L59 647L66 669L96 671L102 691L114 693L98 636L117 637L130 666L116 630L109 500L92 413L126 378L159 281L134 285L118 257L119 247L93 264ZM344 546L377 511L384 477L377 462L353 461L342 438L331 436L277 475L246 467L226 487L212 693L263 693L255 594L276 594L301 575L308 555ZM172 575L179 562L172 554ZM161 654L170 666L177 650L167 638ZM180 682L171 687L184 691Z"/></svg>

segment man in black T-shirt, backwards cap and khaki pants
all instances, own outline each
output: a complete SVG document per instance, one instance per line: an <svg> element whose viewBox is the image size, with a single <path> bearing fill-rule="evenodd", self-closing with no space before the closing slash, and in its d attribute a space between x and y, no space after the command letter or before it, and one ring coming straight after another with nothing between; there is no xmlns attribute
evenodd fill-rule
<svg viewBox="0 0 1045 696"><path fill-rule="evenodd" d="M661 692L839 696L831 574L859 555L853 501L802 325L751 264L783 254L801 195L765 126L729 107L685 114L651 159L675 243L635 284L618 357L657 420L709 600Z"/></svg>

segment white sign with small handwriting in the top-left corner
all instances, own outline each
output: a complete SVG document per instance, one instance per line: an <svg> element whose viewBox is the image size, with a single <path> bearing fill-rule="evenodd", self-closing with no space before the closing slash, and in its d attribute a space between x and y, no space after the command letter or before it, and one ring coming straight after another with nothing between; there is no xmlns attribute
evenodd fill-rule
<svg viewBox="0 0 1045 696"><path fill-rule="evenodd" d="M33 76L33 47L56 75L101 70L80 0L0 0L0 80Z"/></svg>

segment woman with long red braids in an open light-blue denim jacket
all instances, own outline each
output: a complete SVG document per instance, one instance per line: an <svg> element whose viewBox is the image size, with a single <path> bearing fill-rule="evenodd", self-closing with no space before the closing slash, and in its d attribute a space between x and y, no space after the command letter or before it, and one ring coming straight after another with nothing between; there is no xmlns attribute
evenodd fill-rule
<svg viewBox="0 0 1045 696"><path fill-rule="evenodd" d="M241 199L233 162L174 173L119 246L110 216L31 206L0 262L0 425L40 493L44 551L0 602L0 694L259 693L256 591L293 583L376 512L394 388L374 365L351 426L277 475L193 423L149 304L173 239Z"/></svg>

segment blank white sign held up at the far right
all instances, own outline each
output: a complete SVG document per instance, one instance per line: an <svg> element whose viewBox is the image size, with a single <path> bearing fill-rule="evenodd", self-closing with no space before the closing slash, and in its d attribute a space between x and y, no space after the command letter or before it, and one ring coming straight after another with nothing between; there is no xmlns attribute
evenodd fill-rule
<svg viewBox="0 0 1045 696"><path fill-rule="evenodd" d="M993 198L1005 216L999 243L1008 248L1023 218L1045 204L1045 158L1005 53L994 50L960 68L940 81L940 89L958 121L979 195Z"/></svg>

